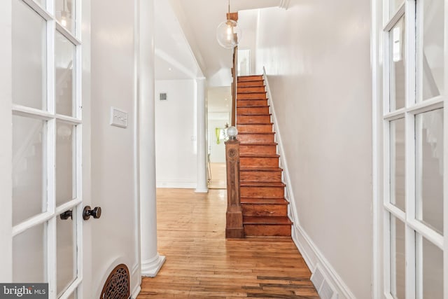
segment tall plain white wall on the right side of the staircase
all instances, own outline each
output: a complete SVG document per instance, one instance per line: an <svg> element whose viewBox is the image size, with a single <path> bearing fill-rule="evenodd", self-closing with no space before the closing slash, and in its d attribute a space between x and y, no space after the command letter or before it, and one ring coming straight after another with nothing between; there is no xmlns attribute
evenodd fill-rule
<svg viewBox="0 0 448 299"><path fill-rule="evenodd" d="M271 85L295 232L345 295L370 298L370 2L293 0L287 11L261 10L259 24L257 72L265 66Z"/></svg>

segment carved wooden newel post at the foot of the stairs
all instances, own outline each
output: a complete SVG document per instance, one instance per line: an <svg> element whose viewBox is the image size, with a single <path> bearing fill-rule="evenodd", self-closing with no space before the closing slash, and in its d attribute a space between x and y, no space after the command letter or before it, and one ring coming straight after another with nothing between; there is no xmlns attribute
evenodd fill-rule
<svg viewBox="0 0 448 299"><path fill-rule="evenodd" d="M239 141L225 141L227 163L227 213L225 214L225 237L243 238L243 214L239 195Z"/></svg>

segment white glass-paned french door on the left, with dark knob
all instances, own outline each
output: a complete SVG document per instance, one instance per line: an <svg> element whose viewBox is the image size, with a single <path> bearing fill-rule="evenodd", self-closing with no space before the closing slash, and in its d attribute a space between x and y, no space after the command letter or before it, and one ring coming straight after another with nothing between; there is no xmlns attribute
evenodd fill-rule
<svg viewBox="0 0 448 299"><path fill-rule="evenodd" d="M12 1L13 282L82 282L80 0Z"/></svg>

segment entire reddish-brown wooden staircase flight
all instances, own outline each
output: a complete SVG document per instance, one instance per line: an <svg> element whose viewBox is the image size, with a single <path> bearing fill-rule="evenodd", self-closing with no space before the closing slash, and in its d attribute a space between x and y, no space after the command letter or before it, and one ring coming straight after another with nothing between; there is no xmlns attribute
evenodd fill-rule
<svg viewBox="0 0 448 299"><path fill-rule="evenodd" d="M239 76L237 129L244 235L290 236L271 115L262 76Z"/></svg>

